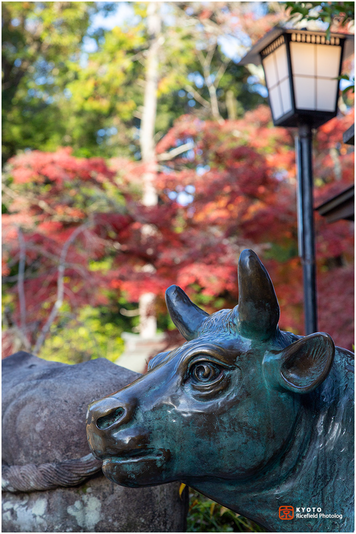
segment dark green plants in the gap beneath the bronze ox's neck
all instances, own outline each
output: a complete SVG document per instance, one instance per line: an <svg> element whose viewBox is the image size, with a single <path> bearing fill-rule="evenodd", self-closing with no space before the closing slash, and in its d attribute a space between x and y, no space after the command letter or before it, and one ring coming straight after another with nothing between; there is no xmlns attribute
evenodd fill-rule
<svg viewBox="0 0 356 534"><path fill-rule="evenodd" d="M197 491L190 490L187 532L265 532L265 530L246 517L232 512Z"/></svg>

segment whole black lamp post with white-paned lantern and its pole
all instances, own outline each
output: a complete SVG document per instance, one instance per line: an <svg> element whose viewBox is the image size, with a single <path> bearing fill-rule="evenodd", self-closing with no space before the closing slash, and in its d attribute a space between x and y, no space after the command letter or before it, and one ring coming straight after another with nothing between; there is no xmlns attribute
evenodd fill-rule
<svg viewBox="0 0 356 534"><path fill-rule="evenodd" d="M275 126L296 127L298 247L303 265L305 334L317 332L312 129L337 114L342 61L353 36L276 27L240 61L262 63Z"/></svg>

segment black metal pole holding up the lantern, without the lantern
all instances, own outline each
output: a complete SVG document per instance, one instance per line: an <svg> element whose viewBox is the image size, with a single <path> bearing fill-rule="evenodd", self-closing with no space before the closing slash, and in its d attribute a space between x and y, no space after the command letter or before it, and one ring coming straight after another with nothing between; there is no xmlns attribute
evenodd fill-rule
<svg viewBox="0 0 356 534"><path fill-rule="evenodd" d="M298 242L303 265L305 335L318 332L314 246L312 128L298 127L296 137L298 174Z"/></svg>

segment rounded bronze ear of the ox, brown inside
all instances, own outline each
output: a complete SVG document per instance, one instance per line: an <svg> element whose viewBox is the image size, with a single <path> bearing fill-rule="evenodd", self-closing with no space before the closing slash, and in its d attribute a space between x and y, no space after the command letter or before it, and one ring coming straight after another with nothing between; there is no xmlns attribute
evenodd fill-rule
<svg viewBox="0 0 356 534"><path fill-rule="evenodd" d="M311 334L282 350L279 385L297 393L309 393L328 376L335 344L325 332Z"/></svg>

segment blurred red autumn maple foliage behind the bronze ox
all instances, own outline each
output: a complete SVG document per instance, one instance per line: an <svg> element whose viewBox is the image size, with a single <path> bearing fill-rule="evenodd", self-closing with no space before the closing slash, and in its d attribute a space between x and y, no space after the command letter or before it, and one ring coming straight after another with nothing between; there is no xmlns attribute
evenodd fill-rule
<svg viewBox="0 0 356 534"><path fill-rule="evenodd" d="M342 144L352 120L351 115L333 119L315 138L316 205L353 180L353 151ZM108 292L131 302L152 292L157 309L164 311L164 290L171 284L209 312L233 307L239 253L249 247L271 274L281 328L302 334L293 136L292 130L272 127L265 106L223 124L180 117L157 153L188 140L194 148L160 167L155 179L159 203L152 207L140 203L142 176L149 170L142 162L83 160L69 149L13 158L3 220L11 320L21 323L22 290L26 335L34 344L58 298L60 265L64 299L72 308L105 303ZM327 224L317 215L315 227L319 328L351 348L351 223ZM22 289L14 283L21 258L26 260ZM104 271L95 267L102 259L107 261Z"/></svg>

